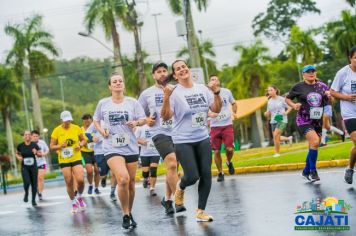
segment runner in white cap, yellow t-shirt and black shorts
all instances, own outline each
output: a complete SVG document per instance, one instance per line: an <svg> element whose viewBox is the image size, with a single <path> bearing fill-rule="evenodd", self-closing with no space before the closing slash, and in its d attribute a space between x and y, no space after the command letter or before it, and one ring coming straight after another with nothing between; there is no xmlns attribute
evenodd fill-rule
<svg viewBox="0 0 356 236"><path fill-rule="evenodd" d="M51 135L51 150L57 151L58 163L67 186L67 193L72 200L72 213L86 208L82 194L84 191L84 168L82 165L81 147L86 144L84 134L78 125L72 124L69 111L62 111L62 124L57 126ZM77 185L77 196L74 196L73 181ZM79 205L79 206L78 206Z"/></svg>

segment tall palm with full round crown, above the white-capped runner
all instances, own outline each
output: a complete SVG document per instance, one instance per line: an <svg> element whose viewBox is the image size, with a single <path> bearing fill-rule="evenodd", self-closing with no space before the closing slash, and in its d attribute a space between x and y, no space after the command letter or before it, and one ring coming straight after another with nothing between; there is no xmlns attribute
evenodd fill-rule
<svg viewBox="0 0 356 236"><path fill-rule="evenodd" d="M35 124L42 132L43 120L39 100L38 78L53 72L53 61L48 55L58 56L53 36L42 27L42 16L35 15L25 19L23 24L8 24L5 33L15 42L7 56L7 62L13 64L16 76L23 77L28 69L31 82L31 98ZM48 54L48 55L47 55Z"/></svg>

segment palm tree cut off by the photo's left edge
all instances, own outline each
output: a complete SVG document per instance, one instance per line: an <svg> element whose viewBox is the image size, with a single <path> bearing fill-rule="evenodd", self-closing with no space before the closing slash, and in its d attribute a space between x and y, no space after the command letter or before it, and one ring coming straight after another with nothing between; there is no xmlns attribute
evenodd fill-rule
<svg viewBox="0 0 356 236"><path fill-rule="evenodd" d="M18 92L19 89L13 71L0 65L0 90L2 91L0 96L0 112L5 124L7 148L15 166L15 174L17 174L17 171L12 136L11 112L20 107L21 98Z"/></svg>

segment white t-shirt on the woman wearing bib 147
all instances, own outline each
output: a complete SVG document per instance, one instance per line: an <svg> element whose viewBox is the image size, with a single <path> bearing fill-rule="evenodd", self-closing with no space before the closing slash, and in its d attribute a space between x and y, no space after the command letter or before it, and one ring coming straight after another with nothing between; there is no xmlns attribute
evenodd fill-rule
<svg viewBox="0 0 356 236"><path fill-rule="evenodd" d="M135 134L126 123L145 118L142 106L136 99L125 97L121 103L114 103L111 97L101 99L93 116L95 121L103 120L109 137L103 140L104 155L138 155Z"/></svg>

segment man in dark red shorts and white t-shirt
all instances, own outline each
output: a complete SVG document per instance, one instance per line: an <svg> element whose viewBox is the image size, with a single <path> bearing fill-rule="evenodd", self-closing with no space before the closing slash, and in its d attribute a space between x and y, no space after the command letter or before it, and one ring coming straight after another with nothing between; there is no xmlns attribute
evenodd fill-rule
<svg viewBox="0 0 356 236"><path fill-rule="evenodd" d="M210 76L210 81L214 81L220 86L220 79L216 75ZM235 168L231 160L234 156L234 127L232 126L230 104L232 112L237 112L237 104L229 89L220 88L220 97L222 108L219 114L210 113L210 143L214 151L214 161L219 171L217 181L224 181L224 172L222 171L221 144L224 143L226 150L226 165L229 168L229 174L235 174Z"/></svg>

